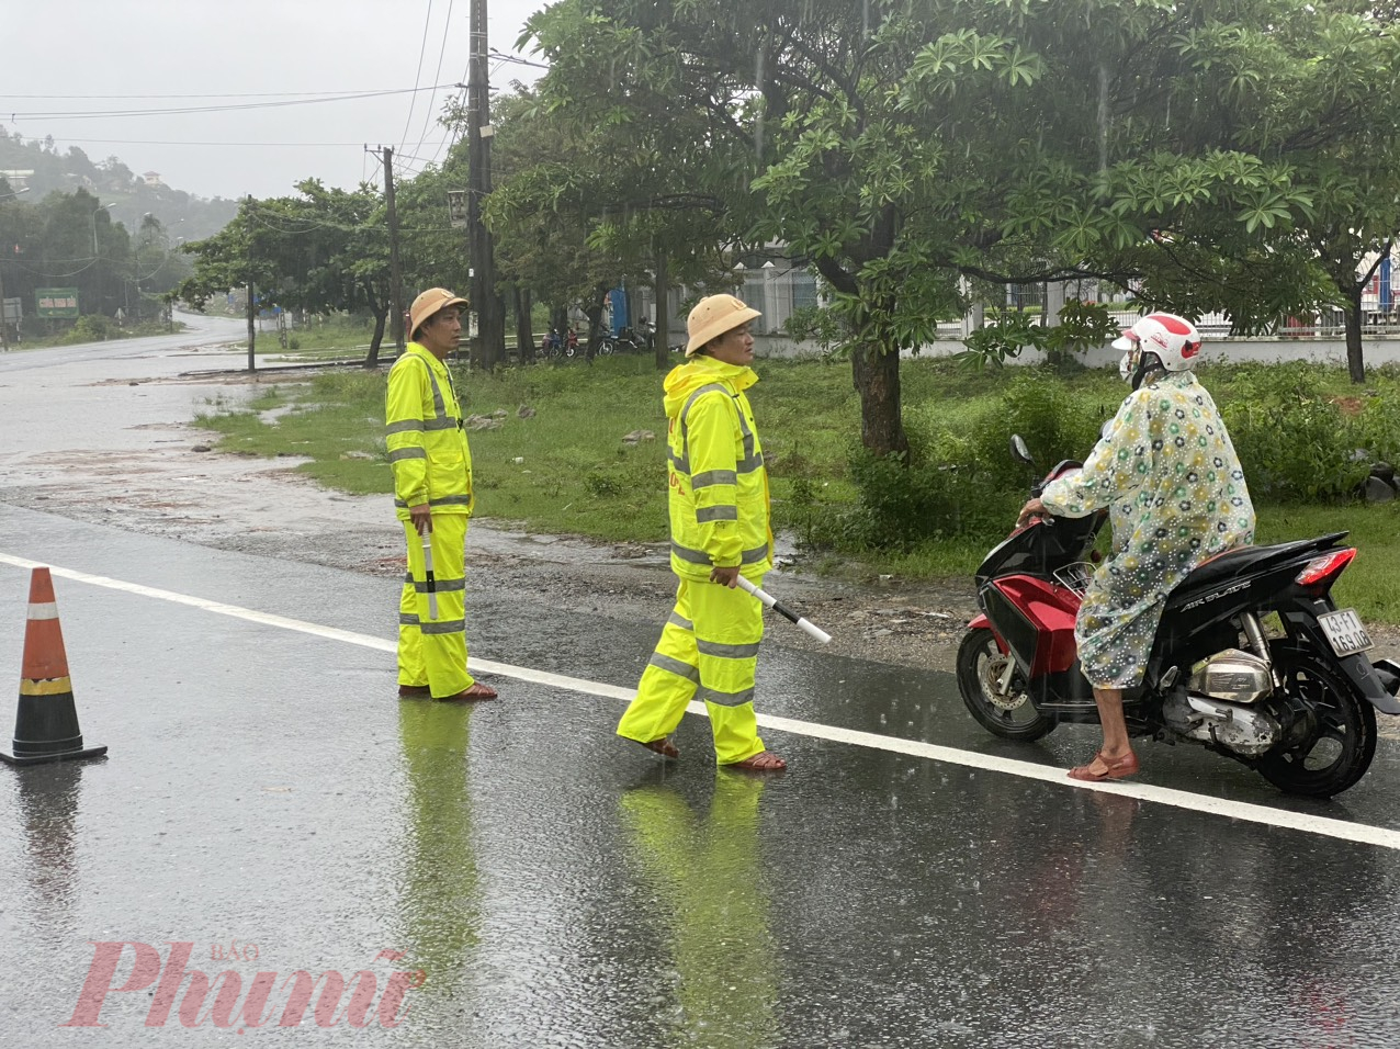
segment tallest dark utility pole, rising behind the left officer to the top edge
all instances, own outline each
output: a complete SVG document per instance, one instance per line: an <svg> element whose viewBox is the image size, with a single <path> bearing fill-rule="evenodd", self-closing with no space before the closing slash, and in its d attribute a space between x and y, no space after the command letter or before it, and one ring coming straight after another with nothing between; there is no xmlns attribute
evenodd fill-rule
<svg viewBox="0 0 1400 1049"><path fill-rule="evenodd" d="M466 195L468 258L472 265L469 297L476 311L476 359L494 368L505 359L505 317L496 294L496 245L482 221L482 204L491 192L491 99L486 67L486 0L472 0L470 56L466 74Z"/></svg>

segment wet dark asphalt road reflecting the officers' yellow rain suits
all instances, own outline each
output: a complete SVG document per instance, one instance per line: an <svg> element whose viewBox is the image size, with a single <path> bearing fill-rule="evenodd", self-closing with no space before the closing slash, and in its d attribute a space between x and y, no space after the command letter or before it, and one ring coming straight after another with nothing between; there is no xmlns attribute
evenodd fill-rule
<svg viewBox="0 0 1400 1049"><path fill-rule="evenodd" d="M0 434L35 431L3 417ZM948 675L788 650L777 620L763 714L966 756L769 728L791 769L760 779L717 772L692 716L683 760L664 766L612 735L659 623L477 587L472 653L511 668L489 678L501 700L400 702L392 580L0 506L15 688L35 562L55 566L87 742L111 749L0 767L6 1045L214 1045L239 1028L493 1049L1400 1045L1400 838L1151 796L1394 832L1389 738L1327 804L1151 745L1140 796L1072 789L1030 773L1082 758L1092 732L1001 744ZM1000 759L1018 765L979 767ZM84 1013L90 969L115 951L94 941L127 947ZM189 944L182 979L171 944ZM288 1015L298 969L318 994L372 973L365 1027L346 1001L323 1028L314 1006ZM424 982L388 1028L393 971ZM196 972L217 980L203 1004ZM276 975L262 1010L259 972ZM106 1027L60 1027L73 1018Z"/></svg>

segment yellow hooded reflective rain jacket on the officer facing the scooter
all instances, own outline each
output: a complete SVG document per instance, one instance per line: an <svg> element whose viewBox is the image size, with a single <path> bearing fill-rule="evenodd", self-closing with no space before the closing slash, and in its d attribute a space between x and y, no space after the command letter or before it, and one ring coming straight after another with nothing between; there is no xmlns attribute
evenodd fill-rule
<svg viewBox="0 0 1400 1049"><path fill-rule="evenodd" d="M769 475L753 409L743 391L753 368L693 357L666 375L671 445L671 569L694 580L742 566L759 578L773 567Z"/></svg>

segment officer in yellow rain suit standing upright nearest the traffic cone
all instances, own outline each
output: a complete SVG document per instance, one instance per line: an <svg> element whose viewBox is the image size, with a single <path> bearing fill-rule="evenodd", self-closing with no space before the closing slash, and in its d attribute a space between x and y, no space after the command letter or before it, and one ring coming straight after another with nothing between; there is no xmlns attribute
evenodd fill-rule
<svg viewBox="0 0 1400 1049"><path fill-rule="evenodd" d="M399 695L441 700L496 699L466 669L466 520L472 515L472 450L447 356L462 332L459 307L434 287L409 310L409 346L389 370L384 419L393 506L403 522L409 573L399 601ZM423 542L431 543L434 578ZM430 587L437 616L431 613Z"/></svg>

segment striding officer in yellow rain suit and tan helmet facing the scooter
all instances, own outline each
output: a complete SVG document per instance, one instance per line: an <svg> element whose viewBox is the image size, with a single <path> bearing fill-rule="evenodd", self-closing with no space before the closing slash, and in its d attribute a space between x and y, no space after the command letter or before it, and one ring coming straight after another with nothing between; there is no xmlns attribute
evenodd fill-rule
<svg viewBox="0 0 1400 1049"><path fill-rule="evenodd" d="M755 317L734 296L701 298L687 321L687 360L666 375L671 570L680 584L617 735L679 758L669 737L699 695L720 765L777 772L785 762L763 749L753 714L763 605L738 590L741 573L762 585L773 567L769 476L743 392L759 381L748 367Z"/></svg>

